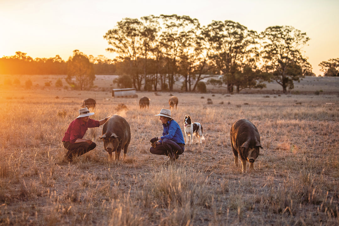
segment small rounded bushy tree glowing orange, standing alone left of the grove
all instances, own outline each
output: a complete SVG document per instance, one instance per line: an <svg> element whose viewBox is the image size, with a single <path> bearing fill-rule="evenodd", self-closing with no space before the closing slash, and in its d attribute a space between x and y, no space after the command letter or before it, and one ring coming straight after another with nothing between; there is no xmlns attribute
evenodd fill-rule
<svg viewBox="0 0 339 226"><path fill-rule="evenodd" d="M80 90L91 88L95 79L93 64L79 50L73 51L73 56L67 61L66 82Z"/></svg>

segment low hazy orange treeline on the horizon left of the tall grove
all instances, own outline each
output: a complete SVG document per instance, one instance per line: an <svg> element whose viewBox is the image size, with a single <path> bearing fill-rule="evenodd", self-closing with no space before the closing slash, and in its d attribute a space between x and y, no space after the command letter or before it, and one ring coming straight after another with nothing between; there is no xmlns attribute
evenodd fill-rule
<svg viewBox="0 0 339 226"><path fill-rule="evenodd" d="M113 75L116 72L114 61L103 56L88 59L93 64L95 74ZM3 75L66 75L67 62L59 55L53 58L35 58L26 53L16 52L14 56L0 58L0 74Z"/></svg>

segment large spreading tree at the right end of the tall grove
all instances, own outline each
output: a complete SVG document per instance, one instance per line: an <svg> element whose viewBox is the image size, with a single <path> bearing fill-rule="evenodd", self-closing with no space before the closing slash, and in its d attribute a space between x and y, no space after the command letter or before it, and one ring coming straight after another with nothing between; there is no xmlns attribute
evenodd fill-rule
<svg viewBox="0 0 339 226"><path fill-rule="evenodd" d="M271 26L261 33L263 69L273 75L284 93L293 89L293 81L300 81L312 73L311 65L302 54L310 38L292 26Z"/></svg>

